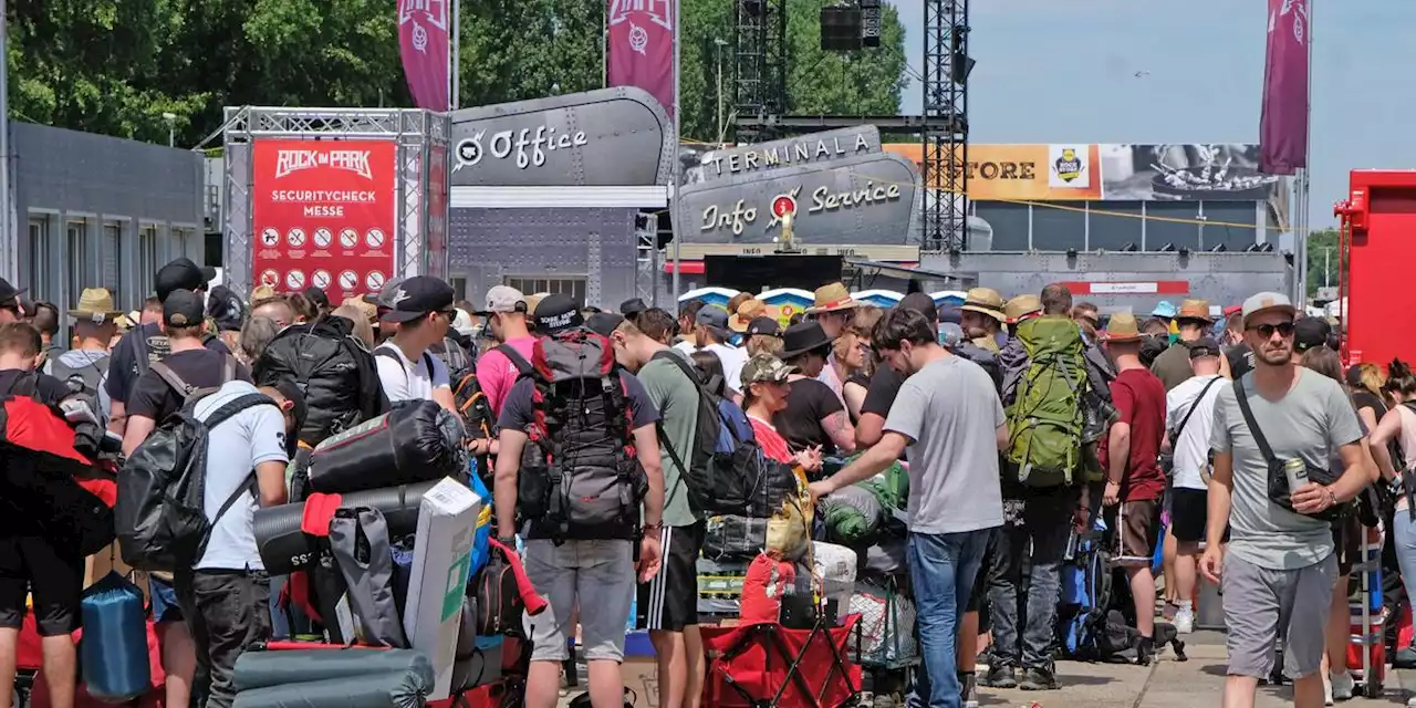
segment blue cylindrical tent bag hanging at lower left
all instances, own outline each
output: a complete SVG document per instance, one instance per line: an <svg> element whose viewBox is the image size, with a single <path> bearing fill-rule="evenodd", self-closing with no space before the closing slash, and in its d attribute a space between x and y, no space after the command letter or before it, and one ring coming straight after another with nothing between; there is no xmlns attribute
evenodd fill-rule
<svg viewBox="0 0 1416 708"><path fill-rule="evenodd" d="M118 704L146 694L152 667L143 590L110 571L84 590L81 607L79 674L89 695Z"/></svg>

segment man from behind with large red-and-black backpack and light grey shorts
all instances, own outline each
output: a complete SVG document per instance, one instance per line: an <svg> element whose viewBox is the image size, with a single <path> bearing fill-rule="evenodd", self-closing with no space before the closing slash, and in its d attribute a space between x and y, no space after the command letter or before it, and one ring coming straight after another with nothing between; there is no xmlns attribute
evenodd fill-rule
<svg viewBox="0 0 1416 708"><path fill-rule="evenodd" d="M549 295L534 310L538 374L511 387L500 418L497 532L518 518L525 571L549 607L528 619L525 705L552 708L576 606L590 701L620 705L624 620L637 578L658 572L664 476L658 411L615 365L613 344L583 327L575 302Z"/></svg>

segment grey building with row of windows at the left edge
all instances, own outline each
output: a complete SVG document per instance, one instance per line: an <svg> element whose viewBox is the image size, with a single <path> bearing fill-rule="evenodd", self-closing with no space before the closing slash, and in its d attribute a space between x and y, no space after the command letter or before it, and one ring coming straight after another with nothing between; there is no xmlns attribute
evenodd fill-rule
<svg viewBox="0 0 1416 708"><path fill-rule="evenodd" d="M59 127L11 122L18 287L61 312L85 287L118 306L153 295L167 261L204 262L202 156Z"/></svg>

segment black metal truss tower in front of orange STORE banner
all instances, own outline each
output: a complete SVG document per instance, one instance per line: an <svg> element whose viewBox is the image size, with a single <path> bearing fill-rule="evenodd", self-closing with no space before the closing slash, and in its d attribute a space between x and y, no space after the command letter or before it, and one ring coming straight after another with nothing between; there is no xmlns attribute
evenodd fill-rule
<svg viewBox="0 0 1416 708"><path fill-rule="evenodd" d="M925 242L966 251L969 161L969 0L925 0Z"/></svg>

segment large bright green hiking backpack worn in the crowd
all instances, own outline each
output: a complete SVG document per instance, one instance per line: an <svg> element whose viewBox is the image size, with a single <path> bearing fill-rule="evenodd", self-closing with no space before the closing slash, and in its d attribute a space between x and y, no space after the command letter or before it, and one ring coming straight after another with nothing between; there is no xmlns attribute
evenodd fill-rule
<svg viewBox="0 0 1416 708"><path fill-rule="evenodd" d="M1082 331L1068 317L1049 316L1020 324L1018 338L1028 370L1008 409L1008 460L1028 487L1070 484L1083 460Z"/></svg>

